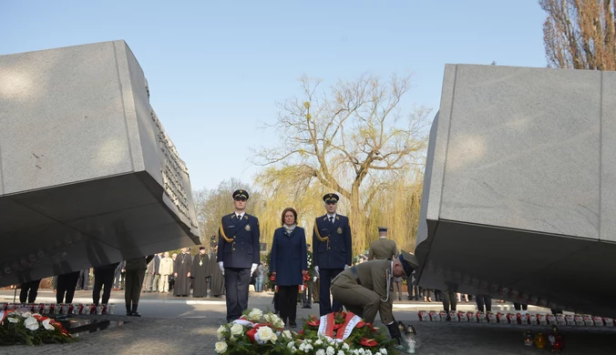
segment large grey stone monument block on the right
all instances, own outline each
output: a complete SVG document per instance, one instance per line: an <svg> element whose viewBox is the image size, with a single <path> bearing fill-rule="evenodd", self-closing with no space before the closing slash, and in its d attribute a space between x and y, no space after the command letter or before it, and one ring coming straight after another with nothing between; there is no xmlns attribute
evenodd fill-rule
<svg viewBox="0 0 616 355"><path fill-rule="evenodd" d="M419 285L616 317L616 73L447 65Z"/></svg>

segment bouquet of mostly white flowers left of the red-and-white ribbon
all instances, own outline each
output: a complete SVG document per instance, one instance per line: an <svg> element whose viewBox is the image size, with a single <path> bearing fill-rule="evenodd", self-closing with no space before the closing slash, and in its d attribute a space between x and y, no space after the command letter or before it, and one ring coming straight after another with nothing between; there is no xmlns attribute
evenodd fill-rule
<svg viewBox="0 0 616 355"><path fill-rule="evenodd" d="M282 330L284 322L273 313L263 314L261 309L246 309L239 320L221 325L216 331L218 354L278 354L291 355L287 347L293 342L293 334Z"/></svg>

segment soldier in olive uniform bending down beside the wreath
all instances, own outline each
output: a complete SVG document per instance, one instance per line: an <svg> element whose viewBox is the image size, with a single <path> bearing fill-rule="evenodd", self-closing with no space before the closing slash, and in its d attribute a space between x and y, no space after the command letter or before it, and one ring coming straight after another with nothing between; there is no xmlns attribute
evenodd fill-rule
<svg viewBox="0 0 616 355"><path fill-rule="evenodd" d="M401 334L394 320L390 282L392 276L410 277L417 266L415 255L405 250L391 261L365 261L344 270L332 281L332 295L366 322L373 323L378 312L392 339L399 342Z"/></svg>

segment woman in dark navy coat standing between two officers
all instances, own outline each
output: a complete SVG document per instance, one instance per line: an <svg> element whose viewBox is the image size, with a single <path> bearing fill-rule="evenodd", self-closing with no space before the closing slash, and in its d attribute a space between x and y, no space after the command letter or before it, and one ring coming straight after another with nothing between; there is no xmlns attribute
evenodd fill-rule
<svg viewBox="0 0 616 355"><path fill-rule="evenodd" d="M297 293L303 284L303 274L308 269L306 234L297 227L297 212L293 208L282 211L282 227L273 233L270 270L275 275L278 286L278 309L284 323L289 321L292 328L297 327Z"/></svg>

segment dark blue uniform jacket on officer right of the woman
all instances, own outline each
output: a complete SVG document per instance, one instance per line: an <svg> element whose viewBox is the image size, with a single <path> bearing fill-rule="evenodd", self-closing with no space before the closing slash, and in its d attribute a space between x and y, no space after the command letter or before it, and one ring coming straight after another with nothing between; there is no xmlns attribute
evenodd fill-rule
<svg viewBox="0 0 616 355"><path fill-rule="evenodd" d="M323 238L327 240L323 241ZM336 215L332 224L327 215L317 217L313 228L313 250L314 266L319 269L344 269L344 265L351 266L353 245L349 218Z"/></svg>

